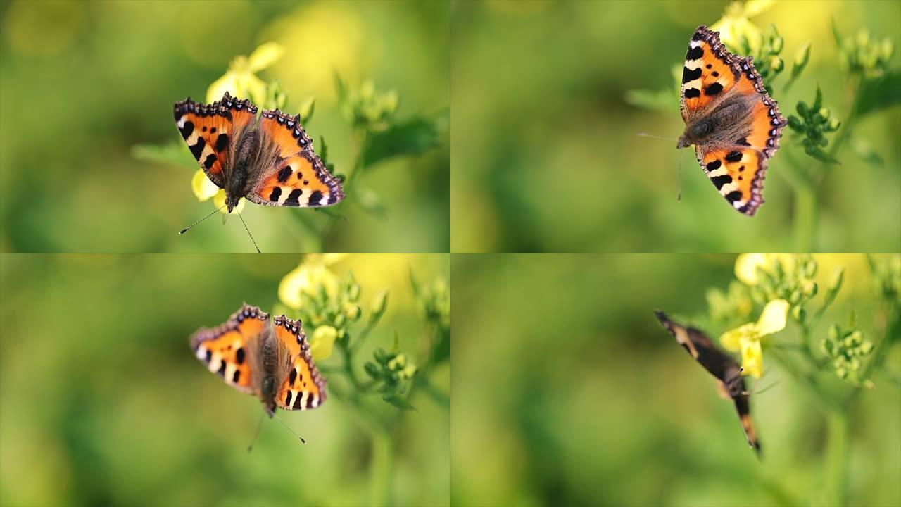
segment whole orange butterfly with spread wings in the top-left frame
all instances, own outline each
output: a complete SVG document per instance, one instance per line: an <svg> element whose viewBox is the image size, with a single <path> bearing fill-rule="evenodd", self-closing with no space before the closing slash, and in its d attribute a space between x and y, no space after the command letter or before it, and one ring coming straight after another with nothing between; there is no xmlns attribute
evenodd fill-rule
<svg viewBox="0 0 901 507"><path fill-rule="evenodd" d="M187 97L175 122L194 158L231 213L241 198L265 206L323 207L344 198L341 181L313 151L300 115L265 110L225 92L210 105Z"/></svg>

